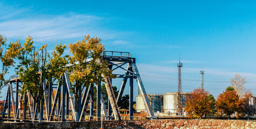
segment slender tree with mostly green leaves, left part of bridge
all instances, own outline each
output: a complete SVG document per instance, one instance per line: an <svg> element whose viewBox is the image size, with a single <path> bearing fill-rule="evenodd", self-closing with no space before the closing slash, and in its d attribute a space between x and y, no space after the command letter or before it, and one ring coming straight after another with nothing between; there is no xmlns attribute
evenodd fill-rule
<svg viewBox="0 0 256 129"><path fill-rule="evenodd" d="M46 52L47 45L43 45L38 51L33 46L33 40L29 36L23 44L21 54L18 56L19 65L17 74L23 82L22 94L29 92L36 103L39 122L41 122L41 99L43 97L43 81L46 77Z"/></svg>

